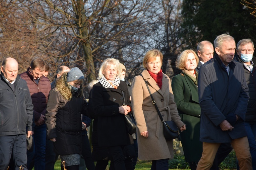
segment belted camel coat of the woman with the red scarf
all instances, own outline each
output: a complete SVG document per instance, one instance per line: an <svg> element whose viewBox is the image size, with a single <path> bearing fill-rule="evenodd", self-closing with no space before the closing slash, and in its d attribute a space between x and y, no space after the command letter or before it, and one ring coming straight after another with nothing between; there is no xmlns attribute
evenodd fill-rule
<svg viewBox="0 0 256 170"><path fill-rule="evenodd" d="M185 125L178 115L170 78L163 73L163 85L160 89L147 70L141 74L148 83L164 121L173 120L178 128ZM133 79L131 92L132 109L137 123L138 157L141 160L173 158L173 141L166 141L164 137L163 123L152 103L142 76L136 76ZM148 138L140 135L144 131L148 131Z"/></svg>

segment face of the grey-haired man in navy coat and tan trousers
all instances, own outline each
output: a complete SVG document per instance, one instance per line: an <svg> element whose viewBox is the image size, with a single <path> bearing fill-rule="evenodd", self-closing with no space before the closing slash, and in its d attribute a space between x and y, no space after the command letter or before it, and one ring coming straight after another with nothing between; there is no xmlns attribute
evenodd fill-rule
<svg viewBox="0 0 256 170"><path fill-rule="evenodd" d="M233 60L236 50L236 43L234 40L224 41L221 47L216 47L215 51L220 60L226 66Z"/></svg>

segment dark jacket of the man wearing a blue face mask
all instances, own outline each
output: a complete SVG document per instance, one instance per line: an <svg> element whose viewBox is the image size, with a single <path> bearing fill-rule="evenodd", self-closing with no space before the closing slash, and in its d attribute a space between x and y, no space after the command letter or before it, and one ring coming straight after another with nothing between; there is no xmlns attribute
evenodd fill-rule
<svg viewBox="0 0 256 170"><path fill-rule="evenodd" d="M240 62L243 64L243 61L241 58L236 54L234 56L234 60ZM245 72L245 80L249 88L249 95L250 99L248 101L248 106L247 106L247 111L245 114L245 121L246 122L255 122L256 121L256 57L252 58L253 64L253 70L252 73L245 67L244 67L244 72Z"/></svg>

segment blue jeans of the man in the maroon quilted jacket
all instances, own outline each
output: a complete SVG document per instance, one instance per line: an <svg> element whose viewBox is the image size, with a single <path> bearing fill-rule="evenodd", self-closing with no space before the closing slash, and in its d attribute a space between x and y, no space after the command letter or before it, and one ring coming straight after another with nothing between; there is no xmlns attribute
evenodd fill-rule
<svg viewBox="0 0 256 170"><path fill-rule="evenodd" d="M45 170L46 124L35 126L33 142L34 151L27 151L27 167L35 165L35 170Z"/></svg>

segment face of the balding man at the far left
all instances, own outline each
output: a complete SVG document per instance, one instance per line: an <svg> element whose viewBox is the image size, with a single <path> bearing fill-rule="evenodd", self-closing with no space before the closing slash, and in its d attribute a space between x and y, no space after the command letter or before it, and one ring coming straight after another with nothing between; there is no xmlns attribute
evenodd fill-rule
<svg viewBox="0 0 256 170"><path fill-rule="evenodd" d="M16 61L7 61L5 67L1 66L4 77L11 83L18 74L18 63Z"/></svg>

